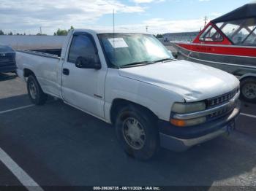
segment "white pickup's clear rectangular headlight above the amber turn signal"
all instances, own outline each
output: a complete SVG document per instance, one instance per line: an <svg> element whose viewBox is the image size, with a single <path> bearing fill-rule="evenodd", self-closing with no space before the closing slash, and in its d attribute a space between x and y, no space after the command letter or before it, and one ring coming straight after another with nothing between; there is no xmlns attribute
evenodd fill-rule
<svg viewBox="0 0 256 191"><path fill-rule="evenodd" d="M177 114L188 114L192 112L200 112L206 109L206 103L195 102L195 103L174 103L172 112L176 112Z"/></svg>

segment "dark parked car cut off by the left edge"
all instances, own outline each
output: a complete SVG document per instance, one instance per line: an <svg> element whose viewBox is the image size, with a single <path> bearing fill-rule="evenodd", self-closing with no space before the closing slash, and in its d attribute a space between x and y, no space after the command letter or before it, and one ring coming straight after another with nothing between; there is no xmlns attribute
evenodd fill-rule
<svg viewBox="0 0 256 191"><path fill-rule="evenodd" d="M12 47L0 44L0 73L16 72L15 51Z"/></svg>

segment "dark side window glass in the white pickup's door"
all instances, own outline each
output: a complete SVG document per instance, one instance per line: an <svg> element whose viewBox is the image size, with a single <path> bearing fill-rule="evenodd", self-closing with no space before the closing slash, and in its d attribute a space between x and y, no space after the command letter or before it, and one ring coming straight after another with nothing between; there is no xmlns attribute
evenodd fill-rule
<svg viewBox="0 0 256 191"><path fill-rule="evenodd" d="M92 42L91 38L87 35L73 36L67 61L75 63L78 57L83 57L88 60L97 59L99 61L94 42Z"/></svg>

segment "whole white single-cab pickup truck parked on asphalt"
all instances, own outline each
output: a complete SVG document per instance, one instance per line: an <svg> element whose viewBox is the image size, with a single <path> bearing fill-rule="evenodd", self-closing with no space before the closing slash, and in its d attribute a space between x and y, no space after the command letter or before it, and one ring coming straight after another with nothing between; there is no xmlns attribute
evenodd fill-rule
<svg viewBox="0 0 256 191"><path fill-rule="evenodd" d="M115 125L121 146L140 160L160 146L184 151L230 132L240 112L236 77L176 61L149 34L76 29L60 58L20 50L16 60L34 104L53 95Z"/></svg>

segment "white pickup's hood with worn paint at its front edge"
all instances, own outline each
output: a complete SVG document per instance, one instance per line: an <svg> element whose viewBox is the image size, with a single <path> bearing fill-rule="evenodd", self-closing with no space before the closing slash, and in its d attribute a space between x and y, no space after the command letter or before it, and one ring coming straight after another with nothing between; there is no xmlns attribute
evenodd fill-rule
<svg viewBox="0 0 256 191"><path fill-rule="evenodd" d="M122 77L165 88L188 102L214 98L239 85L238 79L225 71L189 61L155 63L118 71Z"/></svg>

